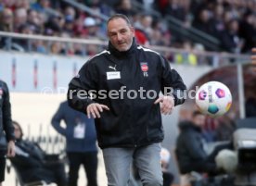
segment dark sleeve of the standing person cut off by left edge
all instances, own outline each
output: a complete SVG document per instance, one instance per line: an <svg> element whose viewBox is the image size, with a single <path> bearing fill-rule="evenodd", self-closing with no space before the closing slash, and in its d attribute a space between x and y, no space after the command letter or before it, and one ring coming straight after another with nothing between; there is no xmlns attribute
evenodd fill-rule
<svg viewBox="0 0 256 186"><path fill-rule="evenodd" d="M9 98L9 91L6 83L3 83L4 87L4 94L3 94L3 106L2 106L2 113L3 113L3 127L6 131L6 140L9 142L10 140L15 140L14 136L14 127L12 125L11 119L11 104Z"/></svg>

